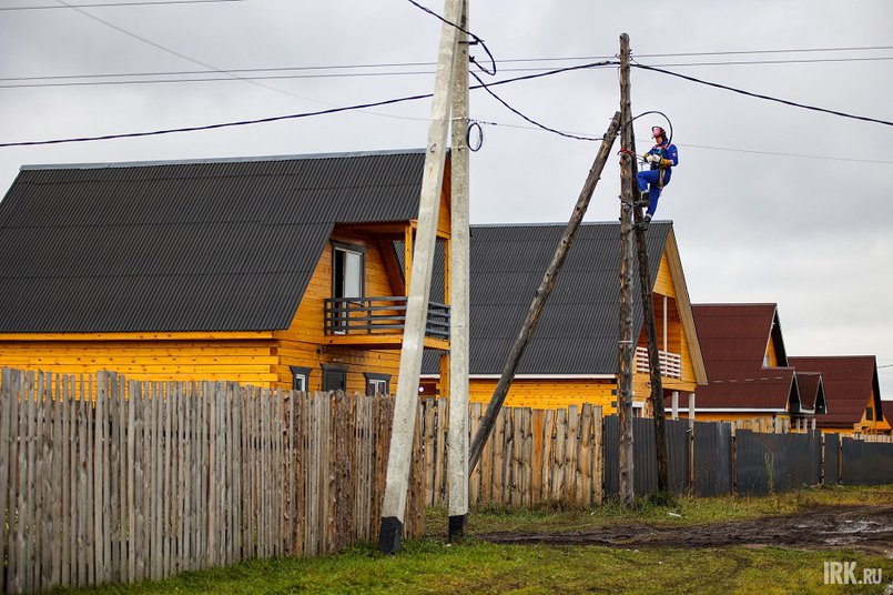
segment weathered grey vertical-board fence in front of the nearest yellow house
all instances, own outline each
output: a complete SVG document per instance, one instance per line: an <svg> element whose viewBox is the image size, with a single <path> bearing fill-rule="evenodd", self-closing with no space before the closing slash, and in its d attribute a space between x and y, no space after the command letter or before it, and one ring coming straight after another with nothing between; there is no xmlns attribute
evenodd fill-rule
<svg viewBox="0 0 893 595"><path fill-rule="evenodd" d="M3 592L156 579L374 541L393 412L387 396L4 369ZM424 523L418 440L415 448L409 537Z"/></svg>

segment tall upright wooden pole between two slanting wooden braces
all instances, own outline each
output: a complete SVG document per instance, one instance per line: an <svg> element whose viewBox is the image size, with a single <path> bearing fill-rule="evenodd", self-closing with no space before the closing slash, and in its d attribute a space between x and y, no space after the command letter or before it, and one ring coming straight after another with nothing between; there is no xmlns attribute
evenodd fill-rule
<svg viewBox="0 0 893 595"><path fill-rule="evenodd" d="M632 108L629 89L629 36L620 36L620 113L623 130L622 149L632 144ZM618 333L617 411L620 416L620 502L632 506L632 178L636 153L622 152L620 158L620 329Z"/></svg>

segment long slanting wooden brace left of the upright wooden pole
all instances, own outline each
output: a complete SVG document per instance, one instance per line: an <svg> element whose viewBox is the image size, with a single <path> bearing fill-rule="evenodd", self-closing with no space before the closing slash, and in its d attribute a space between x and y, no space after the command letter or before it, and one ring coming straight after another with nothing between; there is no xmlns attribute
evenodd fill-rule
<svg viewBox="0 0 893 595"><path fill-rule="evenodd" d="M487 443L487 438L489 437L490 432L496 424L496 417L499 415L499 410L503 407L506 395L508 395L508 389L511 386L511 381L515 377L515 370L518 367L518 362L520 361L521 355L524 355L525 349L527 349L527 343L530 341L530 336L534 334L534 330L539 323L539 316L542 313L544 306L546 305L546 300L549 299L549 294L551 293L556 281L558 280L558 273L561 270L561 264L564 264L565 256L567 256L567 252L570 249L571 243L574 243L574 238L577 234L577 230L580 226L580 222L582 222L584 214L586 214L586 210L589 206L592 192L595 192L596 185L601 178L601 171L605 169L605 163L607 163L608 157L610 157L611 147L613 147L613 141L617 138L619 130L620 112L617 112L613 114L613 119L611 120L608 130L605 132L605 137L601 140L601 148L596 155L592 168L589 170L589 175L587 175L586 182L584 182L582 190L577 199L577 204L574 206L574 212L570 215L570 221L568 221L565 233L561 235L561 240L558 242L555 256L552 256L552 261L549 264L549 268L546 270L546 274L542 276L542 282L539 284L539 289L537 290L536 295L534 295L534 301L530 303L530 307L527 311L527 317L524 321L524 325L521 326L521 330L515 340L515 344L511 346L511 351L506 359L506 363L503 365L503 374L499 377L499 382L496 385L493 397L490 397L490 402L487 405L487 411L484 414L484 418L480 421L480 428L471 442L468 473L471 473L475 470L475 466L480 460L480 453L484 451L484 445Z"/></svg>

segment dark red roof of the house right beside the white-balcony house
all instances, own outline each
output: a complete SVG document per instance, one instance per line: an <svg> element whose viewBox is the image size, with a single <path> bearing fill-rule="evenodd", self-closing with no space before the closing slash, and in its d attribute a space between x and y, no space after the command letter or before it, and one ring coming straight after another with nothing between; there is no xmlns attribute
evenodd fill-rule
<svg viewBox="0 0 893 595"><path fill-rule="evenodd" d="M691 310L710 379L696 390L697 409L800 411L775 304L693 304ZM763 367L770 340L779 366Z"/></svg>

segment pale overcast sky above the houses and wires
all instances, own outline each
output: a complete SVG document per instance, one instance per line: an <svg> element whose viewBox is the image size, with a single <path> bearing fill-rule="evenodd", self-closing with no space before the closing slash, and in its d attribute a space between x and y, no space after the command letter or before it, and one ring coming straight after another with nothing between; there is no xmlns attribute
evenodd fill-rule
<svg viewBox="0 0 893 595"><path fill-rule="evenodd" d="M422 3L444 12L442 1ZM433 90L440 23L406 0L62 4L0 0L0 143L241 121ZM62 8L6 10L16 7ZM627 32L643 64L893 121L889 0L488 0L471 2L470 17L498 62L490 80L609 59ZM775 51L793 49L836 51ZM480 49L473 54L486 58ZM518 61L531 59L539 61ZM784 63L752 63L765 61ZM422 64L256 70L406 63ZM233 69L246 71L214 72ZM58 78L85 74L133 75ZM241 80L270 75L278 78ZM29 80L11 80L22 78ZM229 80L108 84L173 78ZM613 68L495 91L530 118L577 134L600 135L619 107ZM210 132L0 148L0 193L22 164L420 148L429 108L415 101ZM643 70L632 72L632 110L659 110L672 122L679 168L657 219L674 222L693 302L778 303L789 355L873 354L879 365L893 365L893 127ZM534 130L484 91L473 91L470 111L497 124L484 124L484 145L471 159L473 223L567 221L597 144ZM637 122L640 152L658 123L657 115ZM587 220L616 221L618 194L612 159ZM893 399L893 367L879 372L882 396Z"/></svg>

